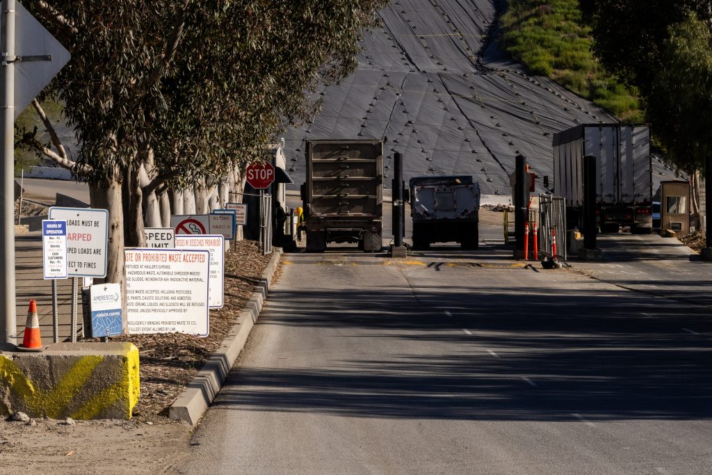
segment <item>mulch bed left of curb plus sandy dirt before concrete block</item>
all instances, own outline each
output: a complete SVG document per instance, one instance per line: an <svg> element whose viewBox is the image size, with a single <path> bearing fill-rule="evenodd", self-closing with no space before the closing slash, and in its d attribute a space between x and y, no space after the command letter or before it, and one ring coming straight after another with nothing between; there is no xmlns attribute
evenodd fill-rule
<svg viewBox="0 0 712 475"><path fill-rule="evenodd" d="M140 351L141 395L132 420L0 420L0 466L57 475L176 473L192 427L169 420L168 408L236 323L270 259L254 241L240 241L236 252L226 254L225 306L210 312L208 337L112 338L134 343Z"/></svg>

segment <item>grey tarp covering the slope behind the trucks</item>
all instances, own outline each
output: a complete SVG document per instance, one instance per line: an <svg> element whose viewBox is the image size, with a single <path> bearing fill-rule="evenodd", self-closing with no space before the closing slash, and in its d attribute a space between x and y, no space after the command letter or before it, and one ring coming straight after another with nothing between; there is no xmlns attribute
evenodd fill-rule
<svg viewBox="0 0 712 475"><path fill-rule="evenodd" d="M365 33L357 71L320 89L323 110L312 124L286 132L295 182L304 180L305 140L377 138L385 143L387 178L399 151L406 180L471 174L483 194L508 195L516 155L551 177L554 132L613 122L498 49L496 3L391 1L379 13L382 26ZM656 163L655 186L662 172L673 177Z"/></svg>

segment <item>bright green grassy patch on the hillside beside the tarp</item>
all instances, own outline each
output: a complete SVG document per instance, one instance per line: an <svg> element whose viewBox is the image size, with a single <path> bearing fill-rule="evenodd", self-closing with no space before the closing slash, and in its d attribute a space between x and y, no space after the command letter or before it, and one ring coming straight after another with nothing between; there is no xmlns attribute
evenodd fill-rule
<svg viewBox="0 0 712 475"><path fill-rule="evenodd" d="M577 0L509 0L502 45L535 74L546 75L624 122L643 122L636 91L607 73L591 51L591 29Z"/></svg>

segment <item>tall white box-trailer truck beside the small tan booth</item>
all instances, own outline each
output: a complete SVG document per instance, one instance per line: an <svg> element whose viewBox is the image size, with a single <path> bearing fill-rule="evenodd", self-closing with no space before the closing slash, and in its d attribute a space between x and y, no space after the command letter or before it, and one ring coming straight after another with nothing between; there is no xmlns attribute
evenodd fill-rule
<svg viewBox="0 0 712 475"><path fill-rule="evenodd" d="M604 233L621 226L649 234L652 218L650 130L645 125L587 124L554 134L554 192L566 199L567 224L582 229L583 157L596 157L596 207Z"/></svg>

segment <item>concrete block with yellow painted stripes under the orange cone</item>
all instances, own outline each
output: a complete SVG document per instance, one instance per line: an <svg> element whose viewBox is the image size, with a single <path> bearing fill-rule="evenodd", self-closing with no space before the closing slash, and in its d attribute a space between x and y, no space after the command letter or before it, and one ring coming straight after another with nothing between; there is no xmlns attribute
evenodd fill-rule
<svg viewBox="0 0 712 475"><path fill-rule="evenodd" d="M0 353L0 412L130 419L138 366L132 343L54 343L42 353Z"/></svg>

